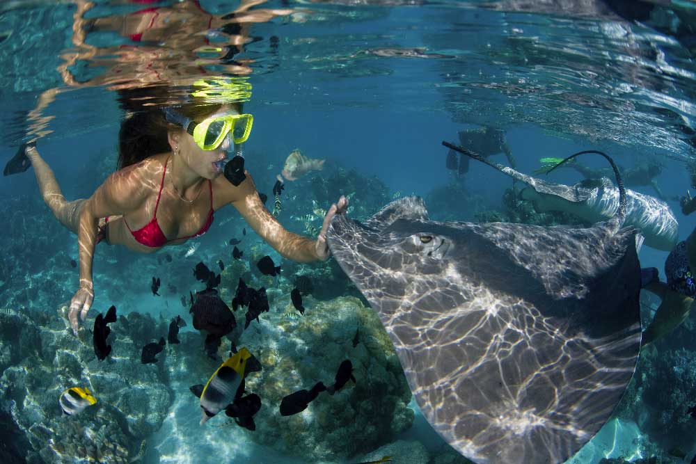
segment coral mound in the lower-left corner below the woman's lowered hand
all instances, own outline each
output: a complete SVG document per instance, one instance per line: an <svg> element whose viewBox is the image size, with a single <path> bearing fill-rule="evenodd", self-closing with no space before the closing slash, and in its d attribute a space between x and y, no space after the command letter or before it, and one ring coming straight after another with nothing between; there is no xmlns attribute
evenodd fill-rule
<svg viewBox="0 0 696 464"><path fill-rule="evenodd" d="M72 335L66 310L40 324L32 312L0 313L0 393L16 429L31 443L27 461L127 463L159 429L171 404L166 374L141 365L136 341L163 329L149 316L121 317L110 339L114 353L99 362L88 330ZM143 333L132 337L127 328ZM72 386L88 387L97 405L62 417L58 397Z"/></svg>

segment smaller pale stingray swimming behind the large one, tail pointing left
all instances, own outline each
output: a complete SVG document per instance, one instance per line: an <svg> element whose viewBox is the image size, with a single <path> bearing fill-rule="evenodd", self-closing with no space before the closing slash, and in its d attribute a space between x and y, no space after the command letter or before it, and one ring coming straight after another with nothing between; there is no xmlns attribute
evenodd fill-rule
<svg viewBox="0 0 696 464"><path fill-rule="evenodd" d="M443 145L457 150L449 143ZM466 148L459 147L457 151L527 184L529 187L521 192L522 198L532 201L537 211L564 211L596 223L610 218L619 208L619 189L606 177L586 179L571 186L553 184L489 161ZM677 218L667 203L655 197L626 189L625 224L640 230L645 245L651 248L671 251L677 245Z"/></svg>

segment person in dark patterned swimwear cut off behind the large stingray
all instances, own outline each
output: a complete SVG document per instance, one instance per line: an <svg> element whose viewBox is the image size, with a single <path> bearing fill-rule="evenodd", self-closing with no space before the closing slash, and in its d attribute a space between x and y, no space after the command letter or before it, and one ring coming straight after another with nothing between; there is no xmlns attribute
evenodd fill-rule
<svg viewBox="0 0 696 464"><path fill-rule="evenodd" d="M696 232L696 231L695 231ZM677 328L691 313L696 298L696 234L677 243L665 261L667 283L657 277L657 269L642 269L643 288L662 298L655 318L643 332L642 344L647 345ZM690 250L690 253L688 251Z"/></svg>

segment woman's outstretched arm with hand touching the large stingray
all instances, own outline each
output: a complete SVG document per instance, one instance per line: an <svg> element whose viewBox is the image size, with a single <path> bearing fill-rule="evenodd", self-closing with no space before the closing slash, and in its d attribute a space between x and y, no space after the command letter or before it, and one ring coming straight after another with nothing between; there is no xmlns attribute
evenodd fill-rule
<svg viewBox="0 0 696 464"><path fill-rule="evenodd" d="M309 239L303 235L294 234L281 225L274 216L269 213L261 201L251 175L246 173L246 179L236 188L229 184L231 200L230 204L237 208L244 220L251 226L264 241L272 246L280 255L296 262L312 262L317 259L329 258L329 247L326 245L326 229L335 214L344 214L348 207L348 200L341 197L338 205L331 205L324 217L322 230L317 239Z"/></svg>

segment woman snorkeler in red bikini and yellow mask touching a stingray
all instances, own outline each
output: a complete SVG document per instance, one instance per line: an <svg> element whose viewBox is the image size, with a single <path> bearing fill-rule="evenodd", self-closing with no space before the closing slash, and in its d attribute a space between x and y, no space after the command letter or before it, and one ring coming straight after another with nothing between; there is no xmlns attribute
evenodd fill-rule
<svg viewBox="0 0 696 464"><path fill-rule="evenodd" d="M276 221L243 167L236 180L221 175L228 151L246 141L252 122L251 115L242 114L241 104L134 113L120 128L119 169L90 198L71 202L63 197L53 170L35 143L22 145L8 161L5 175L33 166L46 204L58 221L77 234L79 289L68 312L74 333L94 299L92 264L99 241L141 253L180 245L204 234L213 222L214 211L229 204L283 257L296 262L329 257L326 228L335 214L345 213L345 197L331 205L319 236L313 240L288 232Z"/></svg>

